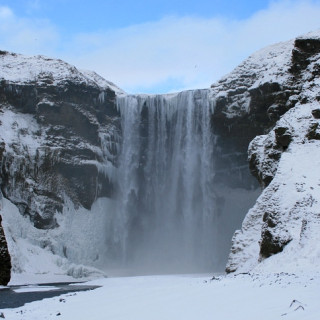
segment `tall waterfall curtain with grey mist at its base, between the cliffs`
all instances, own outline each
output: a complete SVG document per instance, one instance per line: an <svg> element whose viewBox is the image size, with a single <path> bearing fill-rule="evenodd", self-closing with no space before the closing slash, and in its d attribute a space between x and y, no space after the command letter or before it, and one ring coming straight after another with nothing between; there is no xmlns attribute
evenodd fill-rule
<svg viewBox="0 0 320 320"><path fill-rule="evenodd" d="M118 98L122 141L116 208L106 233L109 268L223 271L232 233L257 194L215 185L209 95L192 90Z"/></svg>

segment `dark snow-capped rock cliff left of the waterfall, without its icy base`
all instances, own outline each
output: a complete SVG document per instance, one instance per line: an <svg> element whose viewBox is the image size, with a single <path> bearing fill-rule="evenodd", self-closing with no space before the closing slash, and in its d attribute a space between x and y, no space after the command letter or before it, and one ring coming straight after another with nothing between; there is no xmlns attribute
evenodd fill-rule
<svg viewBox="0 0 320 320"><path fill-rule="evenodd" d="M37 228L54 228L65 197L90 209L113 192L120 90L61 60L1 52L0 63L1 190Z"/></svg>

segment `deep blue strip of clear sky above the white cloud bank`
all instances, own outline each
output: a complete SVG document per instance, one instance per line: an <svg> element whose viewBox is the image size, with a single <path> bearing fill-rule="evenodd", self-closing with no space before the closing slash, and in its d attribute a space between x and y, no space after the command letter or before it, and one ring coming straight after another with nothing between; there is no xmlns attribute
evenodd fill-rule
<svg viewBox="0 0 320 320"><path fill-rule="evenodd" d="M268 6L268 0L11 0L0 1L18 15L46 18L63 32L121 28L168 15L247 18Z"/></svg>

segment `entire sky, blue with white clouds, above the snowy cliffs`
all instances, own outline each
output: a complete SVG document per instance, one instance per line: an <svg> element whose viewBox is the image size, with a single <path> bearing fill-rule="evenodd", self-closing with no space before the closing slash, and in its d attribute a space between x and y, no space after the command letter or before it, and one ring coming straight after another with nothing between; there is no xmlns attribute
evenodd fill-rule
<svg viewBox="0 0 320 320"><path fill-rule="evenodd" d="M253 51L320 29L319 17L318 0L0 0L0 48L163 93L208 87Z"/></svg>

